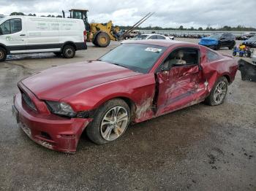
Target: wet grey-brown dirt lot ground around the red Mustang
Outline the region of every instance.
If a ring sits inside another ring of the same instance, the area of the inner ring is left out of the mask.
[[[18,80],[99,58],[116,44],[90,45],[69,60],[48,53],[0,64],[0,190],[256,190],[256,83],[241,81],[240,72],[225,104],[142,122],[112,144],[83,135],[76,155],[45,149],[17,128],[11,105]]]

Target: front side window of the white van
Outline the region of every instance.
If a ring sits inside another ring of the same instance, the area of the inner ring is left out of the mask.
[[[20,19],[18,18],[10,19],[1,24],[0,35],[14,34],[14,33],[17,33],[18,31],[21,31],[21,29],[22,29],[22,26],[21,26]]]

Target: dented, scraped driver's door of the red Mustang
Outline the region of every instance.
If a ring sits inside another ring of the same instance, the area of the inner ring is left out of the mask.
[[[157,115],[181,109],[193,101],[200,72],[200,50],[182,47],[165,59],[157,71]]]

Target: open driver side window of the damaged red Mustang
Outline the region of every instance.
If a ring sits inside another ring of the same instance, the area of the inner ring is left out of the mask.
[[[198,64],[198,50],[195,48],[178,48],[173,50],[165,59],[163,67],[170,69],[172,66],[187,66]]]

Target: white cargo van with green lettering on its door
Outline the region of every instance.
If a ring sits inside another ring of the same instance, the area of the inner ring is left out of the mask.
[[[7,55],[54,52],[73,58],[86,50],[83,20],[57,17],[8,16],[0,20],[0,61]]]

